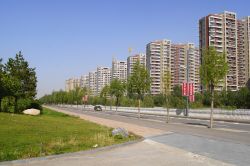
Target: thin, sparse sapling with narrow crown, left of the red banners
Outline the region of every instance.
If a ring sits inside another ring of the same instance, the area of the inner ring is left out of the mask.
[[[166,99],[166,109],[167,109],[167,123],[169,123],[169,97],[171,90],[171,74],[169,70],[164,70],[163,72],[163,94]]]

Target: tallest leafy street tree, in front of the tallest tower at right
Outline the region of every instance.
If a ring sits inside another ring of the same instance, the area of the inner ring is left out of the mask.
[[[209,47],[202,51],[200,77],[203,86],[208,88],[211,93],[210,128],[213,127],[214,88],[226,76],[227,71],[228,65],[225,53],[218,53],[214,47]]]

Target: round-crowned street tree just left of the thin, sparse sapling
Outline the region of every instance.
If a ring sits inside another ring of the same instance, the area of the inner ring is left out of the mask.
[[[140,119],[140,103],[145,93],[149,92],[150,77],[144,66],[137,61],[128,79],[128,92],[135,94],[138,100],[138,118]]]

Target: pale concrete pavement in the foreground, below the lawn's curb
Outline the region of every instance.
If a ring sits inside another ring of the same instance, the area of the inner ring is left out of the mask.
[[[1,165],[1,163],[0,163]],[[230,164],[157,143],[150,139],[95,153],[70,153],[56,158],[13,161],[12,166],[230,166]]]

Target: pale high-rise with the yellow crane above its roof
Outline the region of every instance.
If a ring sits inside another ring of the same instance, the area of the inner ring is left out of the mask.
[[[139,63],[146,67],[146,54],[139,53],[135,55],[131,55],[127,58],[127,75],[129,76],[133,72],[133,68],[135,63],[139,61]]]

